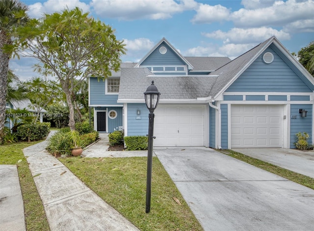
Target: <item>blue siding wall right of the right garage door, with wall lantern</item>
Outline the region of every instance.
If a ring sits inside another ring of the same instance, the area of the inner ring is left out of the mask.
[[[306,117],[301,117],[299,109],[308,111]],[[292,115],[296,115],[296,119],[292,119]],[[298,132],[306,132],[310,135],[308,143],[312,144],[312,129],[313,129],[313,105],[312,104],[291,104],[290,106],[290,148],[295,148],[293,143],[296,142],[296,136]]]

